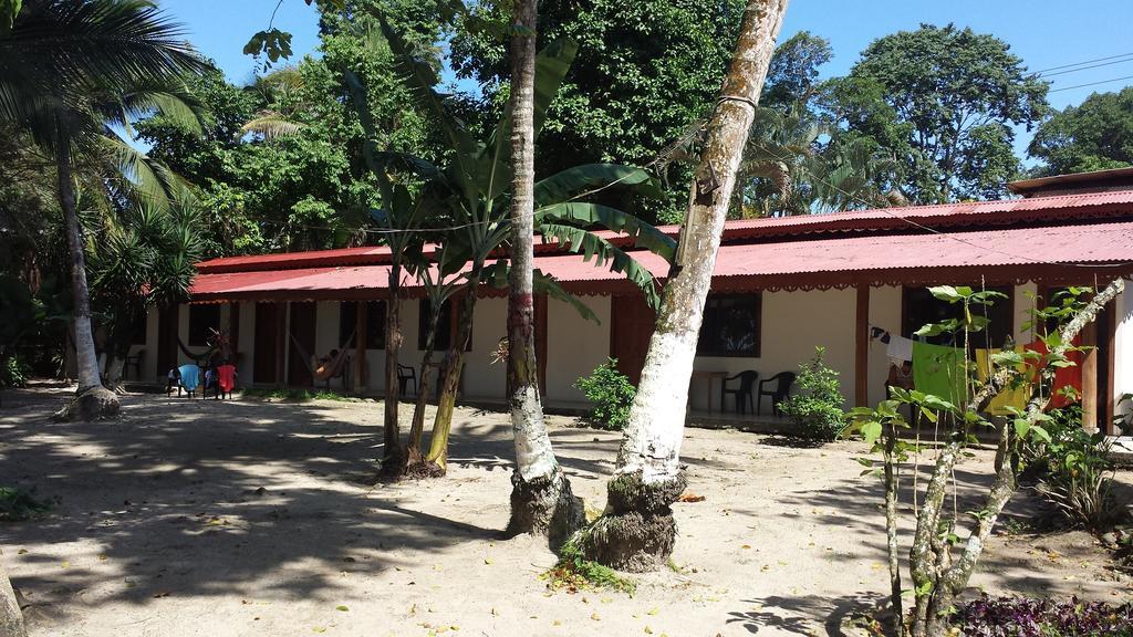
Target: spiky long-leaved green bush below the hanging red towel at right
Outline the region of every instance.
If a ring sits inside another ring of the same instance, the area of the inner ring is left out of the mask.
[[[1031,438],[1022,458],[1038,476],[1036,491],[1067,520],[1098,532],[1121,512],[1110,494],[1113,465],[1104,433],[1082,428],[1082,408],[1053,409],[1043,422],[1047,436]],[[1049,440],[1048,440],[1049,439]]]

